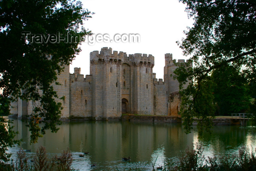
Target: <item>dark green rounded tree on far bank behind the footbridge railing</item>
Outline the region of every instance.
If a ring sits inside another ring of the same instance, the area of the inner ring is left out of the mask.
[[[245,113],[250,99],[246,79],[233,66],[221,67],[212,72],[214,82],[214,102],[218,115]]]

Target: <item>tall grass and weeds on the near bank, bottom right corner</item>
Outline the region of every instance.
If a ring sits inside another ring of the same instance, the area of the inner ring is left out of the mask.
[[[196,145],[195,149],[187,149],[186,155],[180,157],[178,162],[167,161],[164,171],[256,171],[255,151],[242,147],[238,154],[224,155],[217,159],[204,157],[202,146]]]

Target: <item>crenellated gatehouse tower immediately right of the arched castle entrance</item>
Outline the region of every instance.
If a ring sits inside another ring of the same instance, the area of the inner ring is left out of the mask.
[[[130,55],[129,55],[130,56]],[[139,114],[154,114],[153,107],[153,67],[154,56],[135,53],[133,56],[134,86],[133,110]]]

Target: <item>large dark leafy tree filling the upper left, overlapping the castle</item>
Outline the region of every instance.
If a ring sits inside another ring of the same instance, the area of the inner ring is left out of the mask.
[[[37,142],[46,129],[57,132],[56,124],[61,124],[61,103],[54,100],[61,97],[52,84],[91,34],[83,23],[93,13],[80,1],[1,0],[0,14],[0,101],[20,98],[38,104],[28,124],[31,142]]]

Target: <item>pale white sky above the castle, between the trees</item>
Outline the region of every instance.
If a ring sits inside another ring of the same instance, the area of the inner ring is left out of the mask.
[[[174,59],[188,59],[176,41],[185,37],[183,30],[192,26],[184,12],[185,5],[178,0],[82,0],[84,8],[95,12],[84,27],[95,34],[108,34],[113,39],[116,34],[139,34],[140,43],[82,43],[82,52],[70,65],[70,73],[74,67],[81,68],[81,74],[90,74],[90,52],[100,51],[102,47],[127,54],[145,53],[155,57],[153,72],[157,78],[163,78],[165,53],[172,53]]]

